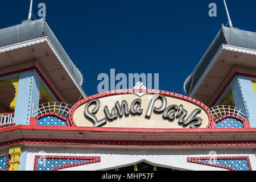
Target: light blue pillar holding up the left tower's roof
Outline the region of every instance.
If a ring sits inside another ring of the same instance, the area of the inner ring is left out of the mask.
[[[16,125],[28,125],[32,104],[39,104],[41,78],[35,70],[19,73],[19,87],[14,111]]]

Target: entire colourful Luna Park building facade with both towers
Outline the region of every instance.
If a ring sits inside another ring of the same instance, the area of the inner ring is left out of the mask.
[[[44,19],[0,30],[1,170],[256,170],[254,32],[222,26],[187,96],[81,84]]]

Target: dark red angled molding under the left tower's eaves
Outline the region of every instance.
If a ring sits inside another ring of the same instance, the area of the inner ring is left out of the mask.
[[[0,77],[3,76],[9,76],[9,75],[14,75],[16,73],[22,73],[22,72],[26,72],[26,71],[31,71],[31,70],[35,70],[38,75],[42,78],[42,80],[45,82],[45,84],[47,85],[47,87],[49,88],[49,90],[51,90],[52,94],[57,98],[57,100],[59,102],[62,102],[61,99],[59,98],[59,96],[57,96],[56,92],[52,89],[51,85],[49,84],[49,82],[46,80],[46,78],[43,76],[43,74],[39,71],[39,69],[36,66],[33,67],[29,67],[29,68],[24,68],[24,69],[19,69],[16,71],[12,71],[12,72],[7,72],[7,73],[2,73],[0,74]]]

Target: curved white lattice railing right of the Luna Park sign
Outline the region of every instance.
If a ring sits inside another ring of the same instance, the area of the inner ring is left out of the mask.
[[[228,115],[228,114],[236,115],[243,119],[247,119],[245,110],[242,110],[235,106],[227,106],[227,105],[213,106],[210,108],[210,111],[212,111],[214,119],[220,118],[222,115]]]

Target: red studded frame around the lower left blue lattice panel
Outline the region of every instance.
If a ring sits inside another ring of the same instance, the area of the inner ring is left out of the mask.
[[[63,166],[56,167],[52,169],[52,171],[57,171],[59,169],[64,169],[64,168],[69,168],[69,167],[75,167],[75,166],[82,166],[85,164],[91,164],[91,163],[97,163],[101,162],[101,157],[100,156],[54,156],[54,155],[36,155],[35,160],[34,160],[34,171],[36,171],[36,167],[38,164],[38,159],[43,158],[43,159],[85,159],[88,161],[85,162],[80,162],[80,163],[73,163],[73,164],[67,164]]]

